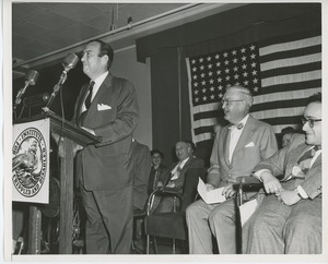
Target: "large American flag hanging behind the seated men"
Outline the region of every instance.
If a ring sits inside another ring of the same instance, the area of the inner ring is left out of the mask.
[[[288,36],[186,59],[192,140],[213,136],[220,100],[232,85],[254,95],[250,113],[276,133],[298,128],[307,97],[321,92],[321,36]]]

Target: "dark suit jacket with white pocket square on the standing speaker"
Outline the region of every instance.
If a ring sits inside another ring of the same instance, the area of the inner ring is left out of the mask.
[[[73,122],[79,125],[82,104],[87,94],[83,86],[78,97]],[[81,125],[93,129],[101,143],[84,147],[77,155],[78,180],[86,190],[108,190],[132,184],[132,132],[139,122],[133,85],[108,73]]]

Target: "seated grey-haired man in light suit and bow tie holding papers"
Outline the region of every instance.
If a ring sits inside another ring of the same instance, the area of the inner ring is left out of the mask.
[[[278,151],[270,124],[254,119],[248,112],[253,96],[248,88],[231,86],[222,99],[224,119],[229,125],[218,127],[208,171],[207,188],[225,187],[226,197],[234,194],[233,183],[239,176],[249,176],[254,167]],[[220,254],[236,253],[234,200],[207,204],[198,200],[187,208],[189,252],[212,254],[212,235]]]

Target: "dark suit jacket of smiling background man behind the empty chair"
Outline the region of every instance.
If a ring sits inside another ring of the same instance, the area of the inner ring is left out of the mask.
[[[167,184],[172,178],[171,171],[177,166],[178,163],[173,163],[167,170],[164,172],[163,178],[161,179],[163,184]],[[185,182],[185,175],[189,168],[203,168],[204,163],[200,158],[190,157],[185,164],[184,168],[180,170],[179,177],[176,180],[173,180],[175,188],[183,188]]]

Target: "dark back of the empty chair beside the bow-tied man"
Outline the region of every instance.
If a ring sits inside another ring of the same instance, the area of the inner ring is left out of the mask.
[[[186,212],[189,204],[195,201],[199,181],[198,179],[200,177],[204,181],[206,176],[206,168],[189,168],[186,171],[180,212]]]

